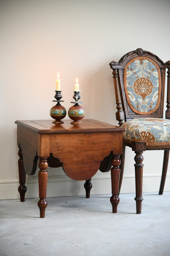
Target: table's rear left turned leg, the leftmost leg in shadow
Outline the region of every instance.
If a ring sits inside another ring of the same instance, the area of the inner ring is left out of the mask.
[[[27,191],[27,187],[25,186],[25,178],[26,178],[26,173],[23,165],[23,159],[22,159],[22,150],[20,146],[18,146],[19,151],[18,151],[18,171],[19,171],[19,187],[18,187],[18,192],[20,193],[20,201],[24,202],[25,201],[25,193]]]

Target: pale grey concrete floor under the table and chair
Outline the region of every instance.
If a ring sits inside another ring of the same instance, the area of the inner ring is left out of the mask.
[[[0,201],[0,256],[170,256],[170,192],[144,193],[136,215],[134,194]]]

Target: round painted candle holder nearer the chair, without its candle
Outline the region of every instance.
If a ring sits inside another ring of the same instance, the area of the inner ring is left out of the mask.
[[[79,105],[83,102],[78,102],[78,100],[81,98],[80,91],[74,91],[73,98],[75,101],[71,101],[71,103],[74,103],[74,105],[69,108],[68,115],[69,118],[73,120],[71,122],[72,124],[81,124],[79,120],[81,120],[85,116],[85,110]]]

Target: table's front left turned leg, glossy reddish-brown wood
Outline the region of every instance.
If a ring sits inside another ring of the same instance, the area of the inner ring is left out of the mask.
[[[38,164],[40,171],[38,172],[39,198],[38,207],[40,208],[40,218],[45,217],[45,209],[47,207],[47,180],[48,180],[48,161],[47,157],[40,157]]]

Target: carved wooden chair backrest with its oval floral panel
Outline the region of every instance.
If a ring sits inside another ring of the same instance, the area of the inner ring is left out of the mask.
[[[138,48],[110,62],[119,124],[136,117],[163,117],[166,68],[159,57]]]

